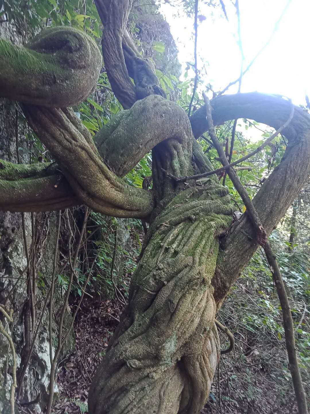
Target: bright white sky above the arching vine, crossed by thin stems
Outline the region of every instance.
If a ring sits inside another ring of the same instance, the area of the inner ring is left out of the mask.
[[[239,0],[244,68],[266,43],[287,2]],[[206,84],[213,84],[215,91],[223,89],[240,74],[237,17],[231,0],[224,0],[224,3],[229,23],[220,17],[220,9],[207,7],[203,1],[200,1],[198,12],[206,17],[198,24],[198,68],[201,70],[205,65],[202,77]],[[181,10],[181,7],[172,7],[167,3],[161,6],[184,68],[186,61],[193,63],[193,19],[184,15],[176,18],[176,9]],[[293,99],[297,105],[305,104],[305,91],[310,94],[309,46],[310,0],[291,0],[269,45],[243,77],[241,92],[282,94]],[[237,87],[231,87],[227,93],[236,91]]]

